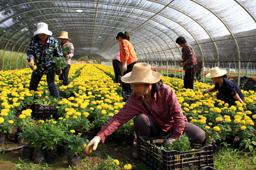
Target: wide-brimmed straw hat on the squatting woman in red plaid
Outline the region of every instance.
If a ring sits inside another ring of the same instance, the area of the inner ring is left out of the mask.
[[[122,76],[121,80],[125,83],[157,83],[162,74],[151,70],[148,63],[135,63],[133,71]]]

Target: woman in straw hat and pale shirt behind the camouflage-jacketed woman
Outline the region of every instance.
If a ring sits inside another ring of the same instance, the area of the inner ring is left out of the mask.
[[[66,57],[67,62],[68,62],[67,67],[65,67],[62,70],[62,73],[60,74],[59,79],[63,80],[63,85],[64,86],[68,86],[68,84],[69,84],[68,74],[69,74],[69,70],[70,70],[70,66],[71,66],[71,57],[74,56],[74,46],[71,42],[68,42],[68,40],[71,40],[71,39],[69,39],[68,32],[66,32],[66,31],[61,31],[60,36],[57,37],[57,39],[61,40],[61,47],[63,49],[62,50],[63,56]],[[71,48],[71,50],[69,50],[69,52],[67,52],[67,54],[64,50],[65,46],[70,46],[70,48]]]

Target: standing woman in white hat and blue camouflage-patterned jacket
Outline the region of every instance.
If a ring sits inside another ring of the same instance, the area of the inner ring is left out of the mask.
[[[50,95],[59,97],[59,91],[55,85],[55,66],[51,60],[53,57],[63,57],[61,48],[59,42],[52,37],[52,32],[48,30],[46,23],[38,23],[37,27],[27,51],[30,68],[34,70],[34,65],[36,65],[36,69],[31,75],[29,89],[36,91],[45,74]]]

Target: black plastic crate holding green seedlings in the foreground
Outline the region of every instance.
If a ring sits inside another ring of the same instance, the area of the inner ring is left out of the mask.
[[[163,138],[138,137],[139,162],[148,169],[201,169],[205,166],[213,167],[213,146],[209,144],[191,144],[195,150],[191,151],[166,151],[160,150],[160,146],[166,141]],[[156,145],[156,146],[155,146]]]

